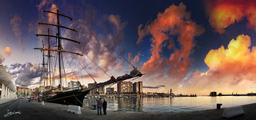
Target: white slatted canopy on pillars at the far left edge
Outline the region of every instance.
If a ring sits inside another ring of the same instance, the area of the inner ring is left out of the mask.
[[[2,88],[0,100],[17,98],[15,94],[15,92],[17,92],[15,89],[15,86],[12,83],[12,80],[9,74],[7,73],[1,61],[0,61],[0,85]]]

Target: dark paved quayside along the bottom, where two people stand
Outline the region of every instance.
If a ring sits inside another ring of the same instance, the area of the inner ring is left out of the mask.
[[[256,103],[242,105],[245,114],[231,118],[231,120],[252,120],[256,118]],[[41,105],[37,101],[28,102],[25,99],[17,99],[0,105],[0,120],[226,120],[221,115],[223,110],[204,110],[179,113],[141,113],[108,111],[107,115],[98,116],[97,110],[81,108],[82,114],[76,115],[67,112],[68,105],[45,103]],[[20,112],[4,117],[7,110]],[[103,113],[103,111],[102,111]]]

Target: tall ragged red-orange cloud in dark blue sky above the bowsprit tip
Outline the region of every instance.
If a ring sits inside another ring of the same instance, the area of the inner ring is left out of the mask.
[[[144,28],[142,26],[138,27],[137,43],[141,43],[143,37],[148,34],[153,38],[150,59],[143,64],[141,71],[154,73],[155,80],[159,80],[159,76],[165,73],[170,79],[182,80],[189,71],[191,62],[189,55],[195,47],[194,38],[204,33],[204,28],[191,20],[191,14],[186,11],[186,6],[182,3],[178,6],[170,5],[163,13],[158,13],[157,19],[147,23]],[[173,37],[177,37],[180,48],[168,45],[168,48],[174,49],[174,52],[167,59],[162,56],[162,48],[165,47],[165,42],[173,44]]]

